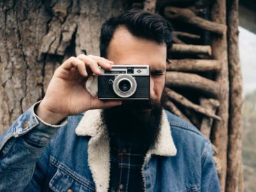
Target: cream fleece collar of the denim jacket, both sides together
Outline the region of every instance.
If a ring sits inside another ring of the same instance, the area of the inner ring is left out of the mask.
[[[102,109],[86,111],[76,127],[77,136],[91,136],[88,143],[88,164],[95,182],[96,191],[108,191],[110,174],[110,147],[106,125],[102,123]],[[175,156],[170,124],[163,110],[158,140],[147,152],[158,156]]]

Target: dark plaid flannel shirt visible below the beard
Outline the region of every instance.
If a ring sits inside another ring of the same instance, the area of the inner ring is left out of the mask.
[[[144,191],[141,168],[147,150],[111,140],[109,191]]]

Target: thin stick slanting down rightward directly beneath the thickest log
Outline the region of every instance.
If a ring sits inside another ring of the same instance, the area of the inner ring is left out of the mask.
[[[215,118],[216,120],[221,120],[220,116],[217,116],[214,113],[211,113],[211,111],[209,111],[208,109],[204,109],[201,106],[198,106],[197,104],[194,104],[193,102],[191,102],[190,100],[186,99],[185,97],[183,97],[179,93],[174,92],[170,88],[165,88],[164,91],[166,92],[168,97],[170,97],[170,99],[175,100],[176,102],[179,102],[180,104],[182,104],[182,106],[194,109],[198,113],[202,113],[202,114],[204,114],[206,116]]]

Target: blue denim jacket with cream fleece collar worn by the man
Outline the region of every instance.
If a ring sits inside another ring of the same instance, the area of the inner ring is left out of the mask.
[[[108,191],[109,138],[100,110],[49,125],[33,108],[0,137],[0,191]],[[211,143],[168,111],[141,172],[145,191],[220,191]]]

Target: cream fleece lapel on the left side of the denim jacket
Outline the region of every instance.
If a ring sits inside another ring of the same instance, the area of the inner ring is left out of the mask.
[[[101,110],[86,111],[76,127],[78,136],[91,136],[88,143],[88,163],[96,191],[108,191],[109,186],[109,138],[101,121]]]

